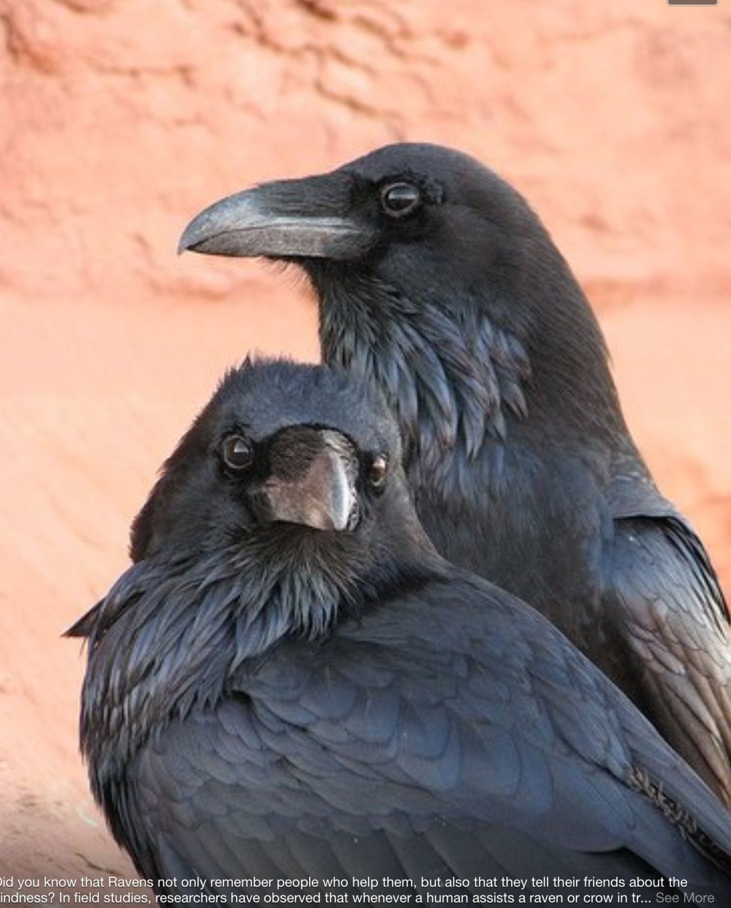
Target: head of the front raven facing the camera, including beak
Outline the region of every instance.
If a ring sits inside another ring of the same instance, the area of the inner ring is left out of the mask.
[[[390,546],[389,515],[398,523],[399,512],[413,525],[385,403],[341,370],[247,360],[165,462],[134,521],[131,554],[253,545],[269,547],[270,563],[316,552],[359,562]]]

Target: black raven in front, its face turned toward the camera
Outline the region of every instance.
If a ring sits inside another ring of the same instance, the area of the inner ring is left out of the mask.
[[[726,808],[544,617],[437,555],[344,373],[232,371],[132,554],[69,633],[94,795],[158,893],[731,898]]]

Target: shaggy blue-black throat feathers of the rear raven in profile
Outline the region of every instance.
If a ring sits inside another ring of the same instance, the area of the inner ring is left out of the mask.
[[[373,281],[318,289],[322,359],[385,391],[427,473],[455,453],[471,461],[486,442],[503,441],[506,414],[527,416],[528,354],[474,306],[459,318],[449,301],[417,304]]]

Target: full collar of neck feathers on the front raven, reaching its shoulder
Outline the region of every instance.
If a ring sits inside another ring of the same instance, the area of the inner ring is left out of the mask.
[[[99,790],[147,736],[214,707],[245,661],[285,637],[324,640],[440,565],[430,549],[396,561],[343,534],[333,557],[332,540],[278,546],[276,534],[291,540],[278,527],[210,558],[140,561],[96,607],[81,734]]]

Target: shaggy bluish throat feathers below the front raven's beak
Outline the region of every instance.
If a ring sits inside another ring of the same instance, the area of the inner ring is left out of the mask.
[[[131,759],[145,729],[218,702],[245,660],[285,637],[325,637],[356,606],[348,572],[311,563],[304,577],[253,549],[226,554],[152,585],[97,629],[90,664],[100,668],[87,673],[82,713],[84,753],[95,764]]]

